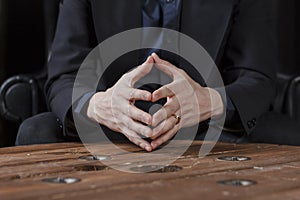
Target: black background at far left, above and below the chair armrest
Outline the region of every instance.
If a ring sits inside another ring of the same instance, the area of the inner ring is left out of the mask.
[[[0,83],[46,62],[43,0],[0,0]],[[17,124],[0,119],[0,146],[13,144]]]

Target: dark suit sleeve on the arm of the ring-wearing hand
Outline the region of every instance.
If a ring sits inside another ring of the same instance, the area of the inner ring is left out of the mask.
[[[247,134],[275,97],[278,65],[272,0],[241,0],[223,57],[223,78]]]

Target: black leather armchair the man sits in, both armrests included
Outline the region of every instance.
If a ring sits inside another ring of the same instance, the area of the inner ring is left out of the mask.
[[[59,2],[59,0],[44,0],[48,50],[55,33]],[[21,124],[25,119],[47,110],[43,93],[47,76],[45,68],[42,67],[42,70],[37,73],[11,77],[2,84],[0,114],[4,118]],[[278,93],[274,103],[274,113],[287,116],[287,119],[293,119],[296,123],[300,123],[300,76],[297,76],[299,72],[293,75],[278,73]],[[265,139],[258,138],[255,142],[260,140],[263,142]]]

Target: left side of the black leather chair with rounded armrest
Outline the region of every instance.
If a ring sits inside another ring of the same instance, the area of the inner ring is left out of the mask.
[[[59,12],[59,0],[43,0],[46,52],[50,53]],[[21,124],[25,119],[47,110],[43,93],[46,66],[39,71],[8,78],[0,88],[0,114]]]

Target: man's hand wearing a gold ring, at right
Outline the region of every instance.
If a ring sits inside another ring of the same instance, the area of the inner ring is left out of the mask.
[[[155,66],[173,79],[152,94],[152,101],[167,98],[167,103],[152,118],[153,149],[169,141],[180,128],[190,127],[209,118],[223,114],[224,105],[220,94],[204,88],[182,69],[152,54]],[[174,117],[180,116],[180,122]]]

